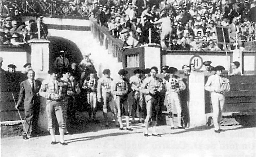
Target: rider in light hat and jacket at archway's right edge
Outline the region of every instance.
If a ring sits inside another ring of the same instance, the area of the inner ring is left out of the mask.
[[[84,53],[84,59],[79,63],[78,68],[81,70],[81,77],[80,77],[80,87],[84,83],[85,78],[89,75],[90,71],[95,71],[96,69],[93,65],[93,61],[90,59],[91,53]]]

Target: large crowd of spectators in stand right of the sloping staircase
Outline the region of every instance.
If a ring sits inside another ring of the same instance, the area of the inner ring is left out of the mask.
[[[126,48],[151,40],[164,49],[231,50],[256,38],[256,0],[100,0],[92,5],[97,22]],[[228,27],[234,44],[217,44],[216,26]]]

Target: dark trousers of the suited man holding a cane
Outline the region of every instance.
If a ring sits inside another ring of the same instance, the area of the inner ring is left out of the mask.
[[[22,135],[25,136],[26,132],[29,136],[38,133],[38,117],[39,117],[39,104],[32,108],[24,106],[25,110],[25,118],[24,118],[24,126]]]

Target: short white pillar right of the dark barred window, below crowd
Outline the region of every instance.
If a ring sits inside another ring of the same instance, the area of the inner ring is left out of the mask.
[[[144,64],[145,68],[156,66],[158,73],[161,71],[161,48],[159,46],[147,45],[144,48]]]

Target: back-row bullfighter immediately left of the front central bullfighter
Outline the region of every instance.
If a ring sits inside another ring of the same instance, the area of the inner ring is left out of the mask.
[[[136,110],[137,107],[139,109],[139,122],[142,122],[141,118],[142,118],[142,102],[140,100],[140,86],[142,84],[142,78],[141,78],[141,74],[142,74],[142,70],[141,69],[135,69],[133,71],[133,73],[135,75],[130,77],[130,84],[131,84],[131,89],[132,89],[132,98],[133,98],[133,104],[132,104],[132,124],[135,123],[135,114],[136,114]]]

